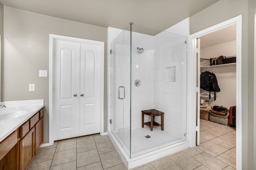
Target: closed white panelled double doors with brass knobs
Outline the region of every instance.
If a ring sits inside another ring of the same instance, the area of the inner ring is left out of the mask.
[[[100,132],[100,48],[54,40],[54,141]]]

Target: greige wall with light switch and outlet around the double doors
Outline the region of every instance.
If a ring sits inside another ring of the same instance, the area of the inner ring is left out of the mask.
[[[104,27],[4,6],[2,101],[44,99],[44,143],[49,141],[49,122],[52,121],[49,120],[49,78],[39,77],[38,72],[49,68],[49,34],[104,41],[105,52],[107,49]],[[106,72],[104,74],[106,77]],[[106,106],[106,78],[104,80]],[[28,91],[28,84],[35,84],[34,92]],[[107,119],[104,119],[104,131],[107,131]]]

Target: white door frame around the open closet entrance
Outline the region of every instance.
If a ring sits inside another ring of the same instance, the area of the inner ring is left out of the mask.
[[[242,15],[234,17],[230,20],[218,23],[212,27],[199,31],[190,35],[190,78],[191,78],[191,119],[190,123],[190,147],[196,146],[196,92],[200,89],[196,88],[196,48],[194,48],[194,40],[204,35],[236,24],[236,169],[242,169]]]

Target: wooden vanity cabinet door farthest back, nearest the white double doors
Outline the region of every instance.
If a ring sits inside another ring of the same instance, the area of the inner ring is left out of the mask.
[[[44,117],[42,117],[35,125],[35,155],[40,145],[44,141]]]

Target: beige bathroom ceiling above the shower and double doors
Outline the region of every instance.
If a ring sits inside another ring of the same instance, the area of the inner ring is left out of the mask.
[[[219,0],[0,0],[4,6],[125,29],[130,22],[165,30]]]

